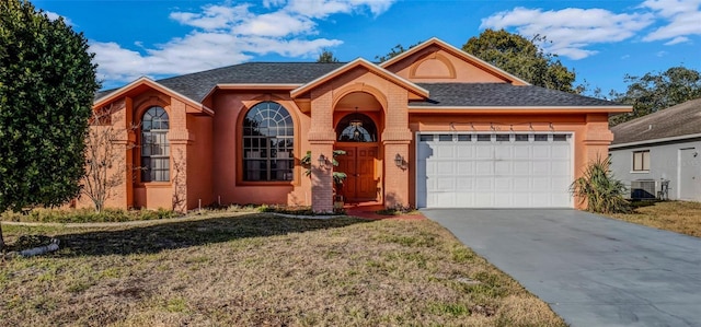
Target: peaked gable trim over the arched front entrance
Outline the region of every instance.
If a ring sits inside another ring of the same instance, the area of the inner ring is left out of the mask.
[[[317,78],[315,80],[313,80],[313,81],[311,81],[311,82],[309,82],[309,83],[307,83],[304,85],[301,85],[301,86],[292,90],[290,92],[290,96],[292,98],[302,96],[303,94],[309,93],[311,90],[313,90],[313,89],[315,89],[315,87],[318,87],[318,86],[320,86],[320,85],[322,85],[322,84],[324,84],[324,83],[326,83],[326,82],[329,82],[329,81],[331,81],[331,80],[333,80],[333,79],[335,79],[335,78],[337,78],[340,75],[343,75],[343,74],[345,74],[345,73],[347,73],[347,72],[349,72],[349,71],[352,71],[352,70],[354,70],[356,68],[367,69],[368,71],[370,71],[370,72],[372,72],[372,73],[375,73],[375,74],[377,74],[377,75],[379,75],[379,77],[381,77],[381,78],[383,78],[386,80],[389,80],[389,81],[391,81],[391,82],[393,82],[393,83],[406,89],[406,91],[409,91],[410,93],[413,93],[416,96],[418,96],[417,98],[427,98],[428,97],[428,91],[426,91],[425,89],[423,89],[423,87],[412,83],[411,81],[407,81],[407,80],[405,80],[405,79],[403,79],[403,78],[401,78],[401,77],[399,77],[397,74],[393,74],[392,72],[387,71],[387,70],[378,67],[377,65],[375,65],[375,63],[372,63],[370,61],[367,61],[367,60],[365,60],[363,58],[358,58],[356,60],[353,60],[353,61],[350,61],[350,62],[348,62],[348,63],[346,63],[346,65],[344,65],[344,66],[342,66],[342,67],[340,67],[340,68],[337,68],[337,69],[335,69],[335,70],[333,70],[333,71],[331,71],[331,72],[329,72],[326,74],[324,74],[324,75],[321,75],[321,77]]]

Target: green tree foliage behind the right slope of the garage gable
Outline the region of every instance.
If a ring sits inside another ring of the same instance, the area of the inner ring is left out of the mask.
[[[533,85],[576,93],[574,71],[563,66],[556,55],[538,46],[544,42],[547,38],[540,35],[528,39],[505,30],[485,30],[471,37],[462,49]]]

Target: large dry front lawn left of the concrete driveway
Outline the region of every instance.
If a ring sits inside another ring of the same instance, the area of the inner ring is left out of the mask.
[[[256,213],[41,232],[66,247],[0,264],[3,325],[564,326],[428,220]]]

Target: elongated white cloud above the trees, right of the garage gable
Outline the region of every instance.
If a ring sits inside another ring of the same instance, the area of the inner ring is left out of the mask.
[[[482,20],[481,28],[516,28],[524,36],[548,38],[542,46],[550,52],[574,60],[597,54],[591,45],[628,39],[653,24],[650,13],[613,13],[604,9],[515,8]]]

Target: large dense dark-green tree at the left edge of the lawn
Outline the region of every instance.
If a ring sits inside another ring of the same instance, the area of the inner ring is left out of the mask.
[[[0,212],[78,196],[100,89],[88,48],[62,19],[25,0],[0,1]]]

